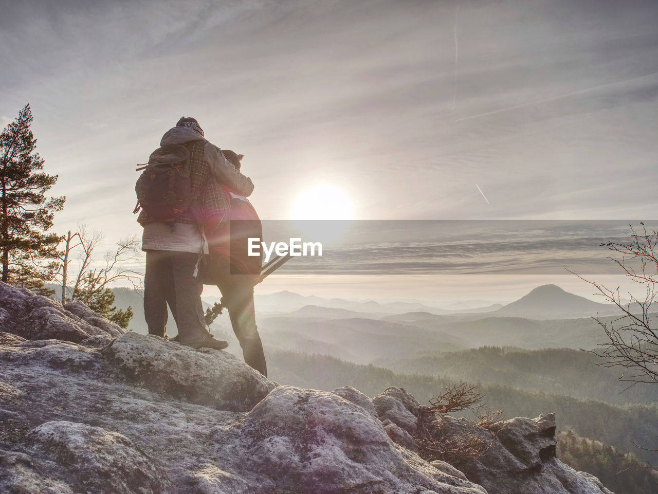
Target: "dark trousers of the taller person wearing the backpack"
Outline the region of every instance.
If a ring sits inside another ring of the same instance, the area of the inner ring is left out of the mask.
[[[207,334],[201,305],[203,282],[194,276],[198,260],[199,255],[190,252],[146,252],[144,317],[149,334],[164,336],[167,304],[179,341],[199,341]]]

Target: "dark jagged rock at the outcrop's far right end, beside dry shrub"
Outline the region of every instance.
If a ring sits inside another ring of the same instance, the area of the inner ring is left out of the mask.
[[[490,432],[465,419],[446,416],[444,433],[480,437],[493,443],[486,454],[460,467],[468,480],[489,494],[612,494],[590,474],[576,472],[555,457],[555,416],[496,422]]]

